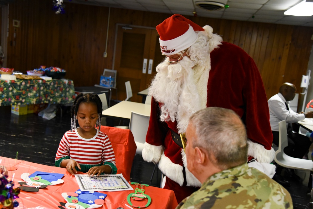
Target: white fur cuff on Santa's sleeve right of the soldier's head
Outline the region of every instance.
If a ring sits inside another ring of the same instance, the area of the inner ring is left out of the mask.
[[[254,157],[259,163],[271,163],[275,157],[275,150],[267,150],[263,145],[248,139],[248,156]]]

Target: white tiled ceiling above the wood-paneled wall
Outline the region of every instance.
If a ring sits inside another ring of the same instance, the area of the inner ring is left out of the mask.
[[[223,18],[253,22],[277,22],[279,24],[306,25],[313,27],[312,17],[286,16],[283,13],[301,0],[212,0],[227,3],[228,9],[208,11],[196,6],[199,0],[64,0],[95,6],[126,8],[157,13],[179,13],[192,16],[196,10],[199,17]],[[203,0],[204,1],[204,0]],[[254,18],[251,18],[254,15]],[[288,18],[287,18],[288,17]]]

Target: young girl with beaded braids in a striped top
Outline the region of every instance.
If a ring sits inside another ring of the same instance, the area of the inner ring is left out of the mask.
[[[102,102],[98,95],[78,94],[71,107],[71,130],[61,139],[55,166],[88,176],[116,174],[115,155],[108,136],[100,131]],[[76,120],[79,128],[76,128]],[[95,128],[99,126],[99,130]]]

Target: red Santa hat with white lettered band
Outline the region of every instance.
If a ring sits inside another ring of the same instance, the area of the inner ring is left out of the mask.
[[[204,31],[202,27],[180,14],[174,14],[156,26],[160,35],[162,54],[173,55],[190,47],[196,42],[195,31]]]

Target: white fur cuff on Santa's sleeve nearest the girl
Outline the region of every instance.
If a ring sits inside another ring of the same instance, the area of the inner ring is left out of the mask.
[[[145,142],[144,148],[142,150],[142,158],[147,162],[153,162],[157,164],[160,161],[161,155],[164,151],[162,145],[155,146]]]

